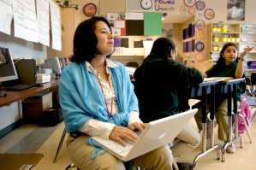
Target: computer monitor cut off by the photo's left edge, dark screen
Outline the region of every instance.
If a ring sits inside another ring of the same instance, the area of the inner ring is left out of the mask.
[[[0,47],[0,83],[18,79],[15,63],[8,48]]]

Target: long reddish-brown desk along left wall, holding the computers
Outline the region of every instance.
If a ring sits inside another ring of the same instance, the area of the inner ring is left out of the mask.
[[[59,85],[59,80],[54,79],[49,83],[42,84],[42,86],[34,86],[23,91],[7,91],[6,97],[0,97],[0,108],[8,106],[11,103],[19,102],[27,97],[33,97],[36,94],[45,91],[54,91]]]

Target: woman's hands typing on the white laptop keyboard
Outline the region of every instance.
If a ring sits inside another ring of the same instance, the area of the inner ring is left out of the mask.
[[[125,146],[124,140],[129,140],[132,142],[137,141],[137,135],[132,130],[128,129],[128,127],[115,126],[110,132],[110,139],[115,140],[117,143]]]

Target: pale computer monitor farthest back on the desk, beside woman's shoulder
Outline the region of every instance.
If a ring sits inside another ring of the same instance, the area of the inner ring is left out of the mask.
[[[45,63],[40,65],[40,67],[41,68],[51,68],[52,72],[57,75],[62,74],[62,69],[61,69],[60,62],[59,62],[59,59],[57,56],[46,60]]]

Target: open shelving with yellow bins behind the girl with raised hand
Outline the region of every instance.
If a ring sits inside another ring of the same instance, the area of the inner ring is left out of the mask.
[[[208,46],[213,62],[217,62],[219,52],[227,42],[235,43],[239,51],[251,46],[253,50],[247,54],[244,67],[247,75],[256,73],[256,24],[211,23],[208,30]]]

